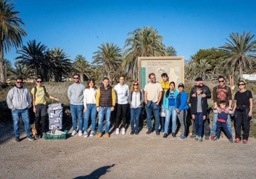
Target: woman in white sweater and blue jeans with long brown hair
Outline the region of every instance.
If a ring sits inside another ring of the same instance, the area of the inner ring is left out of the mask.
[[[90,136],[94,136],[95,125],[96,125],[96,87],[93,79],[87,81],[86,89],[84,90],[84,137],[88,137],[88,121],[91,117],[92,130]]]

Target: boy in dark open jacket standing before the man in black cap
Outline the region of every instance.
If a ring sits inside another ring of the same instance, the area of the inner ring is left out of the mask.
[[[203,141],[202,132],[204,120],[207,116],[207,98],[202,98],[202,87],[196,87],[196,96],[191,98],[191,114],[192,119],[195,120],[195,140]]]

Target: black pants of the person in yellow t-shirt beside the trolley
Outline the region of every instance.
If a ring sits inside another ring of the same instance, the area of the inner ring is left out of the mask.
[[[35,113],[35,128],[38,130],[38,133],[46,133],[47,132],[47,120],[46,120],[46,105],[45,104],[37,104],[35,105],[36,113]],[[41,118],[40,118],[41,116]],[[42,125],[41,121],[42,120]]]

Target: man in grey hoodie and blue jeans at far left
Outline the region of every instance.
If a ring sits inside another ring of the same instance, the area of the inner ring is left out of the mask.
[[[23,79],[17,78],[15,81],[15,87],[13,87],[7,94],[6,99],[9,109],[12,110],[13,129],[15,133],[15,141],[20,141],[19,124],[20,117],[22,117],[24,123],[24,129],[26,131],[26,139],[35,140],[31,136],[29,130],[29,108],[31,107],[31,96],[29,90],[23,87]]]

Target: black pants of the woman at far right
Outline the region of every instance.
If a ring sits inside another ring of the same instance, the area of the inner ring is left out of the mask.
[[[236,138],[241,140],[241,127],[243,128],[243,139],[248,140],[250,132],[250,120],[247,121],[246,113],[237,111],[235,121]]]

